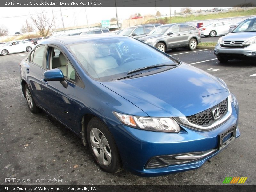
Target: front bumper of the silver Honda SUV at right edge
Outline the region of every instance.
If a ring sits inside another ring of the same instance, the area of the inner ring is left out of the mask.
[[[224,48],[219,43],[214,48],[214,54],[227,59],[251,60],[256,58],[256,44],[245,48]]]

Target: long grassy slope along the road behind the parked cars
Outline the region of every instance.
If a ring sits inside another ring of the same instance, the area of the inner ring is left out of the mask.
[[[222,12],[222,13],[215,13],[215,14],[208,14],[208,15],[187,15],[187,16],[176,16],[171,17],[164,17],[164,18],[158,18],[158,19],[150,19],[144,22],[144,24],[147,23],[162,23],[162,24],[168,24],[168,23],[184,23],[188,21],[193,20],[205,20],[205,19],[219,19],[219,18],[227,18],[227,17],[239,17],[239,16],[249,16],[249,15],[256,15],[256,8],[251,10],[241,10],[241,11],[229,11],[229,12]]]

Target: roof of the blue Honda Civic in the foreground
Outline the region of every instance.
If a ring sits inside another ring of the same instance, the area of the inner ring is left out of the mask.
[[[95,34],[91,36],[68,36],[68,37],[60,37],[56,39],[45,39],[42,44],[75,44],[75,43],[81,43],[81,42],[88,42],[93,40],[104,40],[104,39],[114,39],[114,38],[132,38],[128,36],[122,36],[122,35],[115,35],[113,33],[103,33],[103,34]]]

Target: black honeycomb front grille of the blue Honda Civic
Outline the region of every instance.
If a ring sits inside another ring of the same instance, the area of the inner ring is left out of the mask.
[[[196,114],[191,115],[191,116],[187,116],[186,118],[188,119],[188,121],[190,123],[193,123],[193,124],[196,124],[196,125],[201,125],[201,126],[208,126],[208,125],[214,123],[215,121],[221,119],[223,116],[225,116],[225,114],[228,111],[227,103],[228,103],[228,101],[227,101],[227,99],[225,99],[222,102],[220,102],[218,105],[215,105],[212,108],[209,108],[205,111],[202,111],[200,113],[196,113]],[[215,108],[220,109],[220,118],[218,118],[217,120],[214,120],[213,116],[212,116],[212,109],[215,109]]]

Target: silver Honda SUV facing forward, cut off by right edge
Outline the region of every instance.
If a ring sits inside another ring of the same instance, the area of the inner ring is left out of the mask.
[[[231,33],[219,38],[214,54],[220,62],[256,59],[256,16],[244,20]]]

